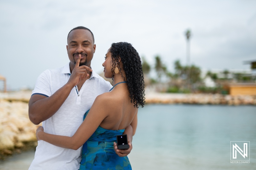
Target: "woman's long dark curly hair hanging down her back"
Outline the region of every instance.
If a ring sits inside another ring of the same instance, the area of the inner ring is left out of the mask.
[[[127,42],[117,42],[112,43],[110,47],[110,52],[112,55],[113,61],[118,62],[120,57],[123,63],[123,70],[126,76],[126,83],[128,85],[128,90],[130,92],[131,103],[134,107],[137,108],[140,106],[144,107],[145,105],[145,89],[144,89],[144,76],[142,72],[141,60],[138,52],[135,48],[132,47],[132,44]],[[114,65],[115,62],[112,62],[112,82],[114,82]],[[119,74],[123,76],[123,73]],[[125,80],[124,80],[125,81]]]

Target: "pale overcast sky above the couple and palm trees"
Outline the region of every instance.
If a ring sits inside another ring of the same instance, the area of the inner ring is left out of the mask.
[[[154,67],[159,55],[168,70],[186,64],[185,31],[191,30],[190,63],[201,69],[250,69],[256,60],[254,0],[1,0],[0,75],[8,90],[34,89],[47,69],[69,62],[67,35],[76,26],[95,38],[92,68],[103,71],[113,42],[132,43]]]

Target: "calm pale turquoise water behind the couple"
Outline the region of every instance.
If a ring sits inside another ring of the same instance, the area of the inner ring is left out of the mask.
[[[250,163],[230,163],[230,141],[250,141]],[[132,145],[135,170],[256,169],[256,107],[146,105]],[[13,156],[0,169],[28,169],[33,156]]]

